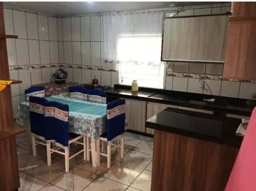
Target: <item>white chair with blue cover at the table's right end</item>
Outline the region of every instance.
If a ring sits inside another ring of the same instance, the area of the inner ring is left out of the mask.
[[[123,134],[125,132],[125,100],[115,100],[110,102],[106,106],[106,132],[100,136],[102,141],[102,150],[103,150],[103,141],[108,142],[107,154],[100,153],[103,156],[107,157],[108,168],[111,164],[111,151],[116,148],[121,148],[121,158],[123,158]],[[121,138],[121,142],[113,144],[114,140]],[[111,148],[111,146],[114,146]]]

